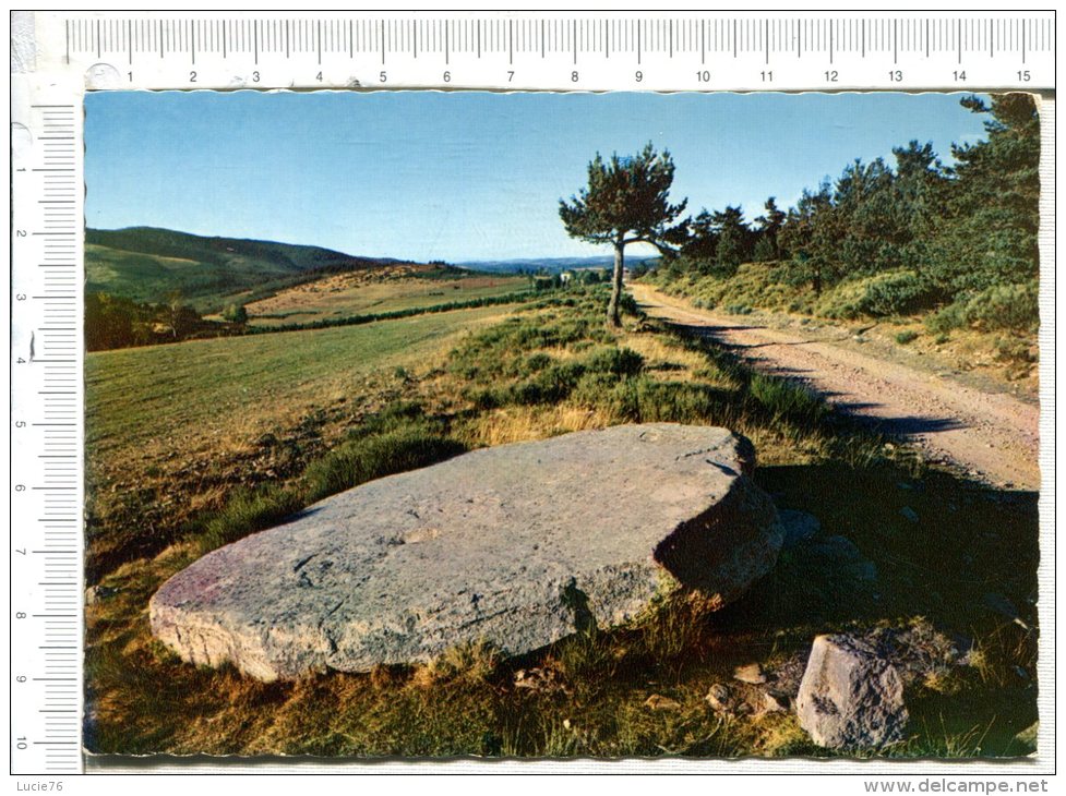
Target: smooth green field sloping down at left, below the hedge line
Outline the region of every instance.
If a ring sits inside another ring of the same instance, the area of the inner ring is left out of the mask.
[[[190,511],[302,467],[339,424],[506,306],[88,354],[89,572],[158,552]],[[152,528],[146,531],[145,528]]]

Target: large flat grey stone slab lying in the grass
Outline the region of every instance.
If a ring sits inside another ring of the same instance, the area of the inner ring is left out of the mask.
[[[475,450],[373,481],[217,550],[152,598],[184,660],[264,680],[507,654],[610,627],[678,584],[724,605],[783,531],[751,443],[668,423]]]

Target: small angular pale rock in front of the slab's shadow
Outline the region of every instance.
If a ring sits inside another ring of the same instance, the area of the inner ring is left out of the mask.
[[[909,717],[896,667],[869,640],[846,635],[815,638],[796,714],[812,740],[831,749],[902,740]]]

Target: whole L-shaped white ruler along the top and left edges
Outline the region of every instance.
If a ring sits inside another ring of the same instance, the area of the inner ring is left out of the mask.
[[[81,771],[86,91],[1046,91],[1054,12],[12,19],[11,769]]]

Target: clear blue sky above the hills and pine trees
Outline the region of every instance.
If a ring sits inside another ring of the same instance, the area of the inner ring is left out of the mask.
[[[673,156],[675,201],[752,219],[912,138],[948,158],[983,136],[960,96],[95,93],[86,221],[417,261],[601,254],[558,215],[597,152],[650,141]]]

